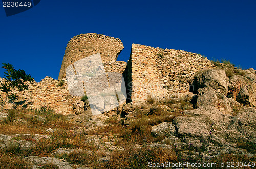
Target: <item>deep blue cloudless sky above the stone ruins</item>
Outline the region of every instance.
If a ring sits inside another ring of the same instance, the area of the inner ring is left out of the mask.
[[[58,78],[68,41],[81,33],[121,39],[118,60],[129,59],[132,43],[180,49],[208,59],[256,69],[256,1],[41,0],[6,17],[0,7],[0,57],[37,82]],[[0,77],[4,75],[0,68]]]

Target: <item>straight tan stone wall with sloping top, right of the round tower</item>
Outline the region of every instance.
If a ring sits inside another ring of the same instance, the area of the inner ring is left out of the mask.
[[[129,62],[130,78],[127,91],[131,101],[143,101],[148,95],[170,97],[173,93],[189,91],[189,78],[197,71],[215,67],[205,57],[183,50],[160,49],[132,45]],[[131,88],[129,88],[131,86]]]

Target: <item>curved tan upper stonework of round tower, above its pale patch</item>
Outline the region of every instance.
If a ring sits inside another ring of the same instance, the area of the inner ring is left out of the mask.
[[[67,44],[58,79],[66,77],[66,68],[72,63],[90,55],[100,53],[106,71],[123,72],[126,62],[116,61],[123,49],[118,38],[96,33],[74,36]]]

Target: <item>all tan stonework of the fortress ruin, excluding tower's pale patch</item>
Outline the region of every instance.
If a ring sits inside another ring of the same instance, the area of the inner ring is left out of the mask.
[[[17,94],[26,100],[27,108],[50,105],[56,112],[62,114],[86,110],[84,107],[88,107],[88,103],[81,101],[81,96],[74,96],[69,91],[66,69],[79,60],[95,54],[100,54],[108,81],[113,81],[110,80],[113,73],[123,75],[127,94],[126,103],[145,101],[148,96],[161,99],[172,97],[173,94],[188,92],[190,80],[196,72],[215,67],[207,58],[196,53],[139,44],[132,44],[131,55],[127,63],[117,61],[122,49],[123,44],[118,38],[96,33],[74,36],[67,44],[58,80],[46,77],[41,82],[29,83],[29,90],[17,92]],[[3,80],[0,79],[0,83]],[[59,85],[61,81],[63,85]],[[120,77],[116,81],[120,82]],[[124,85],[123,82],[121,85]],[[6,96],[0,91],[0,97],[3,100]],[[121,105],[121,97],[116,97],[118,104]],[[110,101],[105,100],[105,104],[95,102],[100,112],[108,111],[111,107],[113,98],[104,96],[104,99],[106,98]],[[12,104],[8,103],[4,109],[11,107]]]

